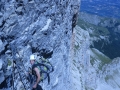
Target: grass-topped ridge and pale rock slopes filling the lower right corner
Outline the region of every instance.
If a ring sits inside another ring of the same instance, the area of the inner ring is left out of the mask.
[[[95,80],[95,82],[93,83],[95,87],[93,87],[90,84],[89,85],[90,88],[94,90],[103,90],[103,89],[119,90],[120,89],[119,87],[120,58],[119,57],[111,60],[109,57],[105,56],[99,50],[92,48],[90,50],[90,63],[91,63],[92,69],[94,70],[92,74],[94,74],[93,78]],[[91,68],[89,70],[91,72]],[[90,88],[88,88],[88,90]]]

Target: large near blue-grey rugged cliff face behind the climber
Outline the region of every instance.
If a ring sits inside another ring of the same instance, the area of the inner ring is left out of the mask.
[[[76,22],[73,16],[79,11],[80,0],[2,0],[0,5],[2,77],[11,75],[14,64],[22,66],[24,63],[27,69],[29,56],[37,53],[54,66],[50,84],[47,80],[42,83],[45,90],[75,88],[70,74],[70,38]],[[25,68],[21,67],[22,70]],[[15,88],[19,82],[19,74],[16,74]],[[8,85],[8,80],[6,83]],[[7,87],[11,88],[10,85]]]

